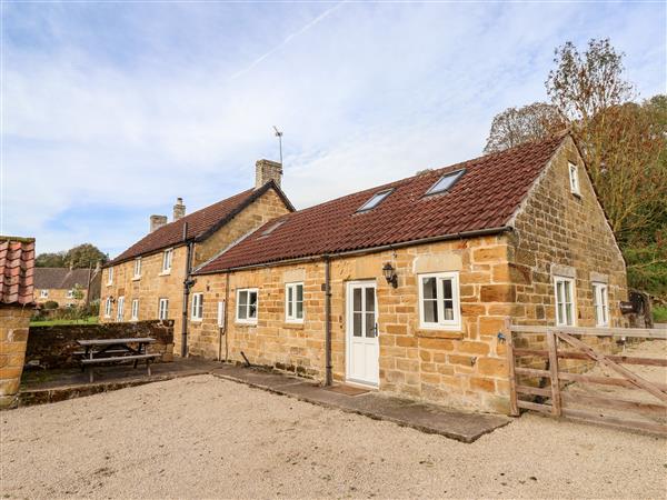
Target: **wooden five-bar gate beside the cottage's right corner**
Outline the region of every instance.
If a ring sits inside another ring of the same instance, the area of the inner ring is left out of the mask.
[[[520,334],[520,338],[517,334]],[[590,342],[586,343],[583,339],[595,340],[600,346],[590,346]],[[667,330],[509,326],[507,356],[511,414],[518,416],[519,409],[526,409],[554,417],[667,434],[667,383],[665,383],[667,377],[663,377],[660,382],[649,381],[623,367],[623,364],[634,364],[665,368],[667,358],[665,356],[657,358],[615,356],[601,352],[604,348],[607,348],[606,350],[613,348],[615,346],[613,342],[633,343],[640,339],[664,342],[667,340]],[[545,342],[546,349],[539,348],[539,343]],[[578,360],[574,362],[579,363],[579,372],[564,367],[568,362],[573,364],[573,361],[564,360]],[[614,372],[615,377],[580,372],[581,367],[589,368],[595,363]],[[631,389],[631,393],[641,394],[641,400],[609,393],[590,396],[568,391],[568,386],[575,382]],[[650,398],[647,399],[646,394],[650,394]],[[577,408],[581,406],[586,409]],[[619,416],[619,412],[623,414]],[[639,414],[649,418],[637,419]]]

